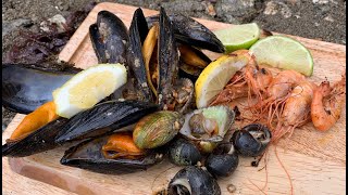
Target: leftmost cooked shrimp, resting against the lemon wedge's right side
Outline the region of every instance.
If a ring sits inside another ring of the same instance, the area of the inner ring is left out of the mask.
[[[257,95],[260,99],[272,78],[272,73],[266,68],[260,68],[252,55],[249,64],[232,77],[224,90],[217,94],[210,105],[229,103],[233,100],[246,96],[250,100],[251,95]]]

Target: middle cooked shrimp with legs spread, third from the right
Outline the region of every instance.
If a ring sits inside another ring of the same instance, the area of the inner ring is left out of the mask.
[[[266,89],[266,98],[259,101],[251,108],[253,113],[258,113],[258,119],[266,116],[268,125],[272,127],[274,116],[279,119],[278,113],[284,102],[289,98],[294,87],[306,81],[306,77],[295,70],[283,70],[278,73]],[[266,115],[266,113],[269,113]]]

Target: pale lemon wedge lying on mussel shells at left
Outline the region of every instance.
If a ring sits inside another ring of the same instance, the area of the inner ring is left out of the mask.
[[[127,81],[127,70],[122,64],[91,66],[67,80],[53,91],[57,114],[71,118],[113,93]]]

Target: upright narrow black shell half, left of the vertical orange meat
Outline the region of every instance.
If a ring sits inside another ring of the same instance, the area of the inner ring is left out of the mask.
[[[141,9],[134,12],[129,27],[129,43],[127,48],[127,63],[129,74],[134,78],[134,86],[138,100],[151,102],[152,92],[147,83],[145,62],[141,53],[142,43],[149,32]]]

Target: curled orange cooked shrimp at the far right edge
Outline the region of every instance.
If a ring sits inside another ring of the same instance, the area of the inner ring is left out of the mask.
[[[330,87],[323,81],[314,91],[311,105],[311,118],[315,129],[326,131],[332,128],[340,117],[346,100],[346,74],[340,81]]]

